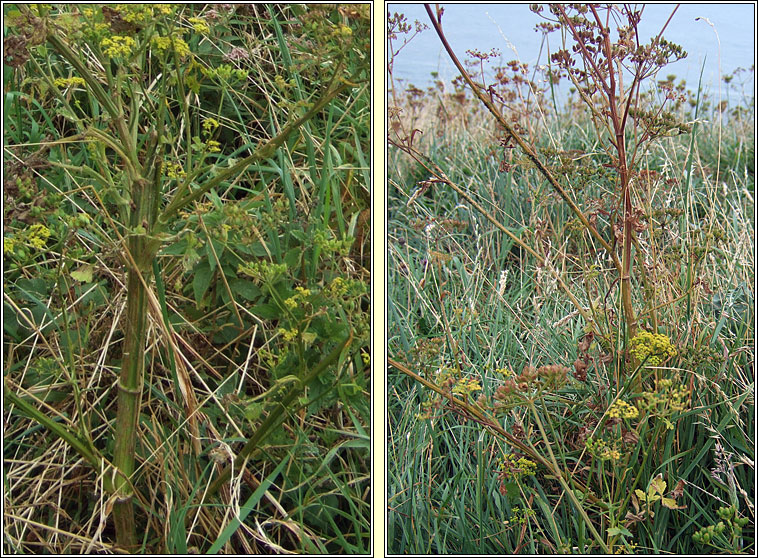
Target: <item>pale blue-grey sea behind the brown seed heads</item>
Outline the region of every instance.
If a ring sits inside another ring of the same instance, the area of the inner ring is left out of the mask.
[[[664,37],[681,45],[688,56],[664,68],[660,77],[675,74],[695,90],[703,70],[703,85],[714,93],[719,76],[731,74],[736,68],[753,66],[755,5],[755,2],[680,4]],[[514,59],[526,62],[530,67],[547,62],[548,45],[543,42],[542,34],[535,31],[535,25],[544,20],[529,10],[529,4],[467,2],[442,6],[445,8],[443,28],[461,60],[466,58],[467,49],[486,52],[494,47],[502,53],[499,60],[495,59],[494,66]],[[642,42],[649,42],[661,30],[675,6],[644,5],[639,26]],[[423,4],[387,4],[387,11],[403,13],[410,22],[419,20],[429,24]],[[547,7],[543,14],[550,15]],[[550,52],[560,48],[558,32],[550,34],[549,41]],[[399,43],[396,42],[397,46]],[[429,25],[429,29],[416,36],[395,58],[393,75],[404,80],[406,85],[426,88],[432,83],[432,72],[437,72],[448,84],[457,75]],[[752,93],[752,75],[747,85]]]

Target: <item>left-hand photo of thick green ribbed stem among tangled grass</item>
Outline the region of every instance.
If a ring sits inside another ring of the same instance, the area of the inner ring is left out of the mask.
[[[369,6],[3,9],[4,550],[365,552]]]

